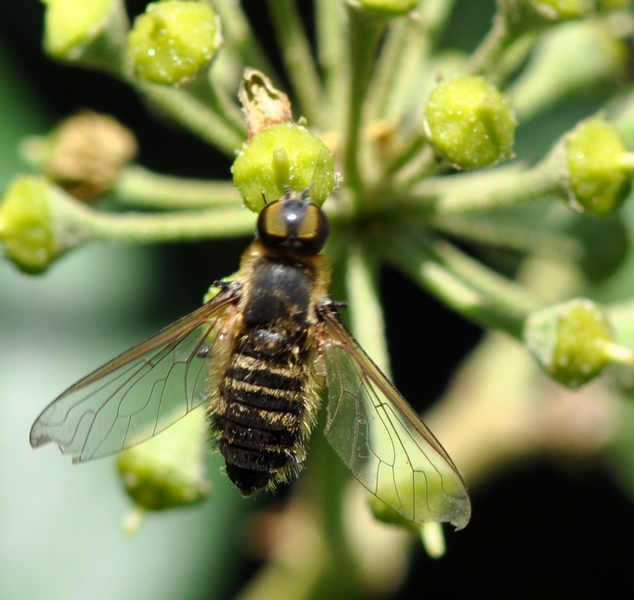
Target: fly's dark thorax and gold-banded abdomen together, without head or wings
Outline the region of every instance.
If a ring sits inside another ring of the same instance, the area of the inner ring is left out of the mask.
[[[306,456],[317,404],[306,350],[310,286],[301,266],[259,265],[220,384],[212,431],[245,495],[291,480]]]

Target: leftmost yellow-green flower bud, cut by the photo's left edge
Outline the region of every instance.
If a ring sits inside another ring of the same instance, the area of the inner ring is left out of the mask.
[[[0,241],[26,273],[41,273],[59,254],[51,219],[51,187],[43,177],[18,177],[0,203]]]

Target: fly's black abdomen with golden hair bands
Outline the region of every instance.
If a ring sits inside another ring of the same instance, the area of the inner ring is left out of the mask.
[[[214,425],[227,475],[245,495],[301,468],[310,396],[305,360],[292,337],[262,329],[248,331],[231,357]]]

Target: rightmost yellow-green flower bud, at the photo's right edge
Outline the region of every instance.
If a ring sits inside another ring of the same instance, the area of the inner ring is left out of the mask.
[[[571,203],[593,215],[612,214],[630,193],[634,171],[616,128],[594,117],[571,131],[565,143]]]

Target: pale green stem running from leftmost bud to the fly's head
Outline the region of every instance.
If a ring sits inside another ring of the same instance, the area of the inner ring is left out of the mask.
[[[63,247],[106,240],[135,244],[179,242],[248,235],[255,216],[243,207],[164,214],[101,213],[61,191],[53,196],[53,218]]]

